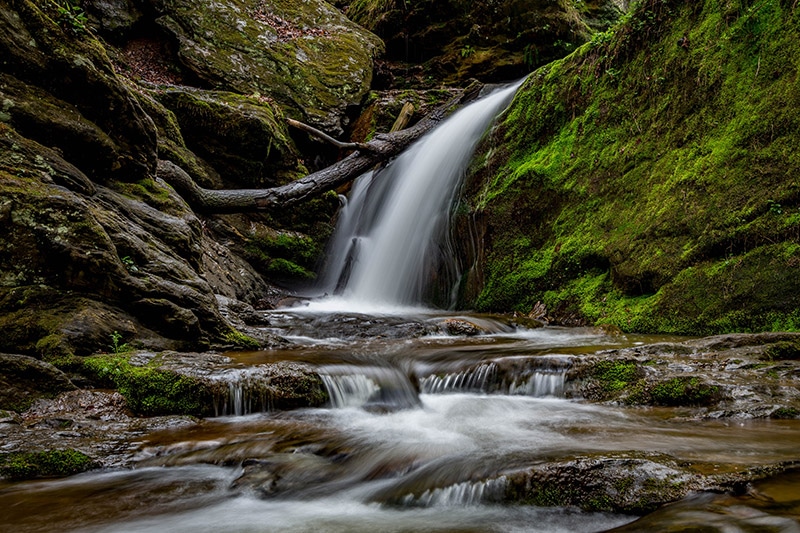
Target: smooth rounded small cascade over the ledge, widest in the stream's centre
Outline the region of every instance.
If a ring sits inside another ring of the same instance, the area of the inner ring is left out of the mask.
[[[319,370],[331,406],[408,409],[419,405],[411,380],[392,367],[338,365]]]

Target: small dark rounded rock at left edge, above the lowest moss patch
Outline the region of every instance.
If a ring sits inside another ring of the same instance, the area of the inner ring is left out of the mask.
[[[44,361],[0,353],[0,409],[21,413],[37,398],[53,398],[75,388],[63,372]]]

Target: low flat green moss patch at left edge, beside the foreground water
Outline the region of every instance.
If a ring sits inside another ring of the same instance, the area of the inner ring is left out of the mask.
[[[85,472],[92,459],[70,448],[42,452],[0,454],[0,475],[15,481],[41,477],[65,477]]]

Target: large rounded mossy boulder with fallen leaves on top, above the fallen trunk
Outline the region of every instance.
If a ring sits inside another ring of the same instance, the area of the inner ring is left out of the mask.
[[[321,0],[155,3],[183,65],[215,89],[269,96],[294,118],[341,134],[369,90],[380,39]]]

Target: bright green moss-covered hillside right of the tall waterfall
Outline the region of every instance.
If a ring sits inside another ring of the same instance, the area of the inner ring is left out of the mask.
[[[799,69],[794,0],[646,0],[536,71],[475,165],[464,303],[798,329]]]

